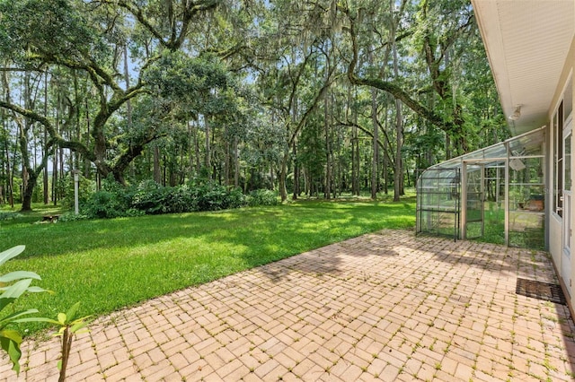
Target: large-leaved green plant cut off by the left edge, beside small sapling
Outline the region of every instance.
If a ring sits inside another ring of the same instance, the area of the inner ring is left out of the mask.
[[[0,266],[11,258],[20,255],[24,248],[24,246],[16,246],[0,253]],[[0,347],[10,357],[10,361],[13,364],[12,369],[16,374],[20,374],[22,335],[17,330],[8,328],[8,326],[22,322],[41,321],[42,319],[24,317],[38,313],[38,309],[30,308],[15,311],[13,308],[12,312],[9,312],[8,307],[13,307],[14,301],[25,292],[46,291],[40,287],[31,286],[32,280],[40,280],[40,276],[37,273],[28,271],[16,271],[0,276],[0,291],[2,291],[0,295]]]

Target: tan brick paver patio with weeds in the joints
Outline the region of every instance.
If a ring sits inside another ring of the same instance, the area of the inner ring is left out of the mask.
[[[572,380],[569,309],[547,254],[385,230],[150,300],[75,340],[68,380]],[[22,373],[57,380],[58,343]]]

